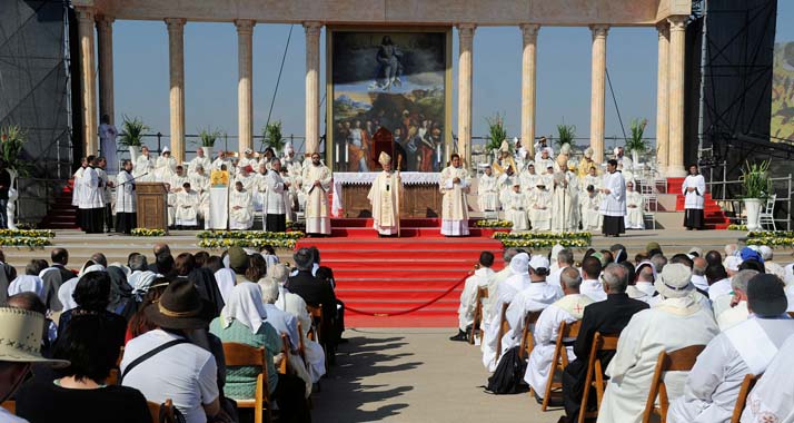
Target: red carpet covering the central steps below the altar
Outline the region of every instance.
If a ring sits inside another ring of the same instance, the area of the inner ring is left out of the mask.
[[[378,238],[371,219],[333,219],[331,225],[331,237],[302,239],[296,248],[317,246],[321,265],[334,269],[348,327],[455,327],[463,284],[423,305],[473,270],[483,250],[496,256],[494,268],[503,266],[502,243],[490,238],[489,229],[447,238],[439,233],[440,219],[403,219],[404,237]],[[417,306],[423,307],[385,316]]]

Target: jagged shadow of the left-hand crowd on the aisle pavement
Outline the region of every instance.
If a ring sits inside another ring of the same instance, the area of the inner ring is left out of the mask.
[[[354,332],[355,333],[355,332]],[[351,333],[347,333],[353,335]],[[337,364],[330,366],[328,376],[320,381],[321,391],[312,394],[312,420],[317,422],[377,422],[397,415],[407,403],[397,402],[413,386],[393,386],[364,380],[375,375],[404,372],[418,367],[421,362],[405,361],[411,353],[396,353],[406,345],[403,336],[367,338],[353,336],[339,346]],[[390,353],[391,352],[391,353]],[[378,405],[383,404],[383,405]]]

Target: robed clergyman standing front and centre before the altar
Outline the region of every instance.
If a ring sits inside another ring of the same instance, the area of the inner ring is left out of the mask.
[[[399,205],[403,197],[403,179],[391,171],[391,157],[380,151],[378,163],[384,171],[373,181],[367,199],[373,206],[373,229],[378,235],[399,235]]]

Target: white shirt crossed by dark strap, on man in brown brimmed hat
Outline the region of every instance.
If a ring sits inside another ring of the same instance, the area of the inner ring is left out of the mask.
[[[161,329],[149,331],[132,338],[125,347],[121,373],[149,351],[178,338]],[[185,414],[188,423],[205,423],[202,404],[218,399],[218,367],[208,351],[193,344],[179,344],[165,350],[136,366],[125,376],[123,385],[140,391],[148,401],[163,403],[167,399]]]

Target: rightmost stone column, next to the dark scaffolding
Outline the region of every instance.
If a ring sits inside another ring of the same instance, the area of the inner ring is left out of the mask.
[[[669,21],[669,151],[667,176],[686,176],[684,169],[684,43],[686,38],[685,16],[672,16]]]

